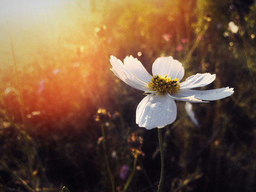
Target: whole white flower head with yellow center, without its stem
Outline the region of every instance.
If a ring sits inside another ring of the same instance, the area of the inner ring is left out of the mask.
[[[116,57],[110,57],[114,74],[135,89],[149,93],[139,103],[136,110],[136,123],[140,127],[162,128],[175,121],[177,106],[175,100],[186,102],[208,102],[222,99],[234,93],[233,88],[225,87],[215,90],[192,90],[212,83],[215,74],[196,74],[180,83],[184,68],[172,57],[157,58],[152,66],[151,76],[141,62],[132,56],[126,57],[124,63]]]

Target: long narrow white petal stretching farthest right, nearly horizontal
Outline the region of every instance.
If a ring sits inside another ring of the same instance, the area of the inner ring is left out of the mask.
[[[234,88],[220,88],[214,90],[180,90],[178,94],[183,95],[183,97],[190,97],[193,96],[197,99],[202,99],[206,101],[213,101],[217,99],[222,99],[230,96],[234,93]]]

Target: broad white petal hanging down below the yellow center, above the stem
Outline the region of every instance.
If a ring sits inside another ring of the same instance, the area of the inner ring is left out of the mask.
[[[177,106],[173,99],[167,95],[152,93],[139,103],[136,110],[136,123],[140,127],[153,129],[162,128],[175,121]]]

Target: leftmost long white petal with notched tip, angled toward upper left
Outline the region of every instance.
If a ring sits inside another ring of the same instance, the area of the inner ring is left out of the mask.
[[[113,57],[112,55],[110,56],[110,63],[112,65],[112,68],[110,70],[113,71],[113,73],[123,82],[134,87],[135,89],[146,91],[146,92],[152,92],[148,90],[149,89],[148,83],[150,79],[148,82],[145,82],[144,81],[145,79],[140,79],[140,77],[136,76],[138,74],[136,75],[133,74],[135,69],[131,70],[132,67],[127,68],[126,67],[127,65],[124,66],[121,60],[117,59],[116,57]],[[135,66],[135,64],[133,65]],[[140,67],[141,63],[137,62],[137,65],[139,66],[138,69],[141,71],[141,67]],[[148,73],[146,69],[145,69],[145,73]]]

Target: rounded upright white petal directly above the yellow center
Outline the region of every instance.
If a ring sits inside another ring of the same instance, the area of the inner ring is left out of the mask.
[[[184,68],[178,60],[172,57],[157,58],[152,66],[153,75],[161,75],[171,78],[178,78],[181,81],[184,75]]]

